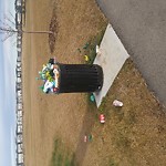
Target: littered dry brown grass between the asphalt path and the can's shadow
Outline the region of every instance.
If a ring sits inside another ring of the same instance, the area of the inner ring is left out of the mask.
[[[122,108],[113,106],[115,98],[123,101]],[[95,147],[100,158],[92,165],[166,165],[165,110],[149,93],[132,60],[126,61],[96,112],[105,114],[106,123],[94,124],[89,153]]]

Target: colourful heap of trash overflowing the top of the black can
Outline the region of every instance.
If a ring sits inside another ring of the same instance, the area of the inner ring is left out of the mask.
[[[55,59],[50,59],[46,64],[43,64],[41,71],[39,71],[38,80],[42,80],[43,84],[40,86],[44,93],[59,93],[59,65]]]

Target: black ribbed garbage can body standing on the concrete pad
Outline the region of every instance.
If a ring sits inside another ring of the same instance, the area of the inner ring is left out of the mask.
[[[96,92],[103,86],[103,70],[97,64],[58,64],[59,93]]]

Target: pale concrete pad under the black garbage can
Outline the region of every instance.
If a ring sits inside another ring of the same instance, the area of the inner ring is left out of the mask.
[[[98,93],[94,93],[97,107],[128,58],[126,50],[111,24],[106,28],[100,45],[100,51],[101,55],[96,55],[94,64],[102,66],[104,72],[104,83],[102,90]]]

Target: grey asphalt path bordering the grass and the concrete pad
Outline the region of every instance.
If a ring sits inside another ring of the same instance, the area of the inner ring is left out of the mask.
[[[151,91],[166,106],[166,1],[96,0]]]

